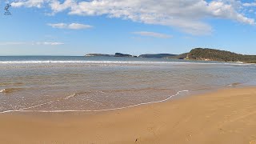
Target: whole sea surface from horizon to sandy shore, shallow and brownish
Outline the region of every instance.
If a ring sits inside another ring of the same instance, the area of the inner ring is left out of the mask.
[[[158,58],[0,57],[0,113],[114,110],[255,84],[254,64]]]

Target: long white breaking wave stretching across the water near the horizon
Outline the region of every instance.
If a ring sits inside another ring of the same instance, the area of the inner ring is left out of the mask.
[[[159,61],[0,61],[0,64],[44,64],[44,63],[88,63],[88,64],[195,64],[195,65],[231,65],[256,66],[250,63],[236,62],[159,62]]]

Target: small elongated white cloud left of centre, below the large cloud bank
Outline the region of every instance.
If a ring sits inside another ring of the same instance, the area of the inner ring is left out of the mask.
[[[90,25],[84,25],[80,23],[48,23],[48,26],[51,26],[53,28],[58,28],[58,29],[71,29],[71,30],[80,30],[80,29],[89,29],[92,28],[93,26]]]

